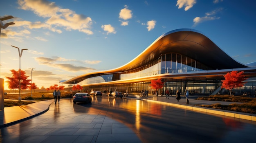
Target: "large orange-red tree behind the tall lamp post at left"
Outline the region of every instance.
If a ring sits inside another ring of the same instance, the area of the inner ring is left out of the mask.
[[[10,70],[12,73],[12,77],[6,77],[9,79],[9,81],[6,81],[8,83],[8,88],[10,89],[27,89],[28,85],[31,80],[27,79],[29,76],[26,76],[26,73],[24,70]]]

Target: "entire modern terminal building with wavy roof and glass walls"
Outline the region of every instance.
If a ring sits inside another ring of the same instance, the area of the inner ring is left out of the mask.
[[[221,90],[223,75],[232,70],[244,71],[247,84],[234,91],[239,94],[251,92],[256,86],[256,67],[236,62],[223,52],[208,37],[193,29],[177,29],[160,36],[135,59],[119,68],[88,73],[63,81],[63,84],[79,83],[84,90],[117,90],[139,94],[141,90],[153,92],[149,84],[161,78],[163,89],[177,89],[184,93],[210,95]],[[161,93],[161,91],[159,91]]]

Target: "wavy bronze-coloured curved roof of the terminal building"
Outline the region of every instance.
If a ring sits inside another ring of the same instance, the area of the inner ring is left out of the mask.
[[[63,84],[79,83],[86,78],[104,75],[106,73],[121,73],[145,66],[165,53],[179,53],[191,57],[213,69],[246,68],[236,62],[208,37],[193,29],[177,29],[157,38],[148,48],[137,57],[119,68],[92,72],[74,77]]]

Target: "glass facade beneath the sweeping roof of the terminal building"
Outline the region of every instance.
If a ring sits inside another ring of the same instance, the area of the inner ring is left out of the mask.
[[[229,91],[225,89],[220,89],[221,77],[207,77],[200,76],[194,78],[173,78],[176,74],[198,72],[206,70],[216,70],[204,63],[198,62],[195,59],[187,57],[186,55],[181,55],[178,53],[168,53],[161,55],[152,62],[144,65],[140,68],[126,71],[123,73],[105,73],[104,75],[97,77],[90,77],[81,81],[79,84],[83,86],[85,92],[90,92],[91,90],[99,90],[101,92],[121,91],[125,92],[128,89],[129,94],[140,94],[141,90],[148,90],[149,95],[153,94],[154,90],[150,88],[151,80],[146,80],[155,75],[167,74],[164,78],[161,78],[164,82],[164,88],[159,89],[159,93],[162,91],[169,90],[172,95],[175,95],[177,89],[184,91],[185,88],[189,89],[191,95],[211,95],[211,94],[227,94]],[[170,75],[168,77],[168,74]],[[204,73],[202,73],[203,75]],[[172,75],[172,76],[171,76]],[[144,78],[145,80],[140,82],[136,79]],[[129,82],[125,82],[130,80]],[[134,81],[133,81],[134,80]],[[124,81],[122,84],[110,83],[109,81]],[[236,88],[233,92],[236,95],[240,94],[255,94],[256,79],[254,77],[247,79],[247,84],[242,88]],[[215,91],[217,91],[214,93]],[[160,95],[160,94],[159,94]],[[184,93],[182,93],[184,95]]]

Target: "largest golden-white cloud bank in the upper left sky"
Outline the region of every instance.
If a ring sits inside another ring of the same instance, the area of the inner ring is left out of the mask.
[[[47,28],[51,31],[62,33],[56,27],[63,27],[65,30],[78,30],[92,35],[90,30],[92,19],[85,15],[76,14],[70,9],[62,9],[55,2],[47,0],[18,0],[20,9],[33,11],[36,15],[46,18],[46,22],[16,21],[18,26],[27,26],[30,29]],[[53,28],[54,27],[54,28]]]

